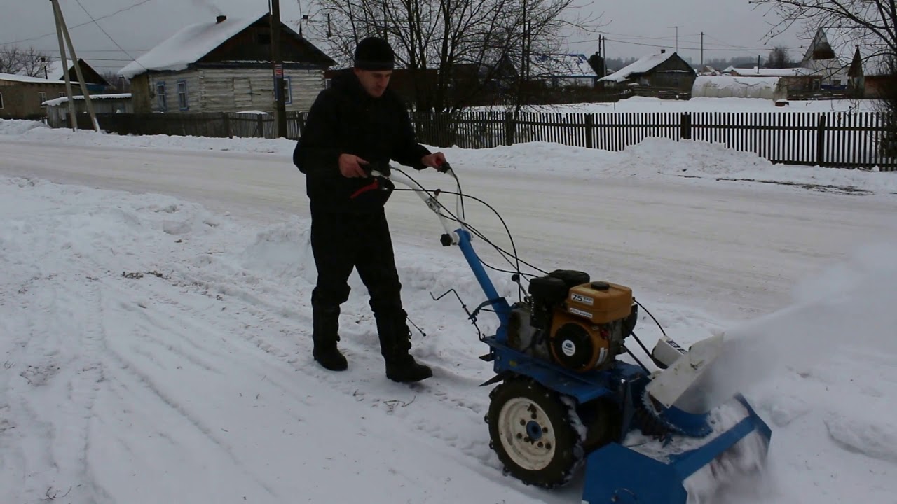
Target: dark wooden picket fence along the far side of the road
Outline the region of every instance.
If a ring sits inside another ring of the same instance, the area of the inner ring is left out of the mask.
[[[561,114],[468,111],[412,113],[422,143],[492,148],[551,142],[622,151],[649,137],[721,143],[776,163],[897,170],[897,133],[875,112],[605,112]],[[100,127],[122,135],[274,138],[274,118],[247,114],[100,114]],[[296,139],[304,112],[287,113]],[[86,114],[79,125],[90,127]]]

